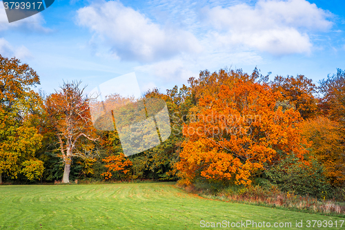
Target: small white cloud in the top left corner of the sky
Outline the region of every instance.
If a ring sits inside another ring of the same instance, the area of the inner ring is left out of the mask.
[[[40,13],[27,17],[26,19],[21,19],[19,21],[14,21],[9,23],[5,8],[3,8],[3,3],[0,3],[0,31],[10,30],[10,29],[21,29],[21,30],[34,30],[40,32],[51,32],[49,28],[43,27],[44,21]]]

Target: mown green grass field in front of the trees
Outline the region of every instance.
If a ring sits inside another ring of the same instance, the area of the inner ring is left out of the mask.
[[[223,220],[230,224],[241,220],[272,225],[291,222],[291,227],[270,229],[345,229],[345,224],[340,227],[345,217],[205,200],[173,183],[0,186],[0,230],[216,229],[201,228],[201,220],[205,224]],[[303,220],[302,228],[295,227],[296,220]],[[333,227],[317,227],[316,223],[313,228],[313,222],[306,227],[307,220],[327,220]],[[237,229],[268,228],[250,225]]]

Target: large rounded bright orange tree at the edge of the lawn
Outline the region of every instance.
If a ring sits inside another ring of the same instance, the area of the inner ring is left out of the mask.
[[[197,178],[249,185],[255,173],[293,153],[303,159],[308,144],[298,111],[277,107],[281,99],[267,84],[234,79],[219,92],[200,97],[176,168],[181,183]]]

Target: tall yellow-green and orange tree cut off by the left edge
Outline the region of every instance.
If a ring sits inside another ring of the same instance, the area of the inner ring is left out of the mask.
[[[23,173],[29,180],[43,173],[35,157],[42,137],[31,123],[41,105],[30,88],[37,84],[39,76],[28,64],[0,55],[0,184],[3,173],[11,178]]]

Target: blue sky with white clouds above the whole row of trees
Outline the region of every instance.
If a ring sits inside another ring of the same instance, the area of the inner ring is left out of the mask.
[[[55,0],[8,23],[0,4],[0,54],[17,57],[54,93],[86,92],[135,73],[141,92],[188,84],[200,70],[242,68],[305,75],[317,83],[345,68],[342,0]]]

